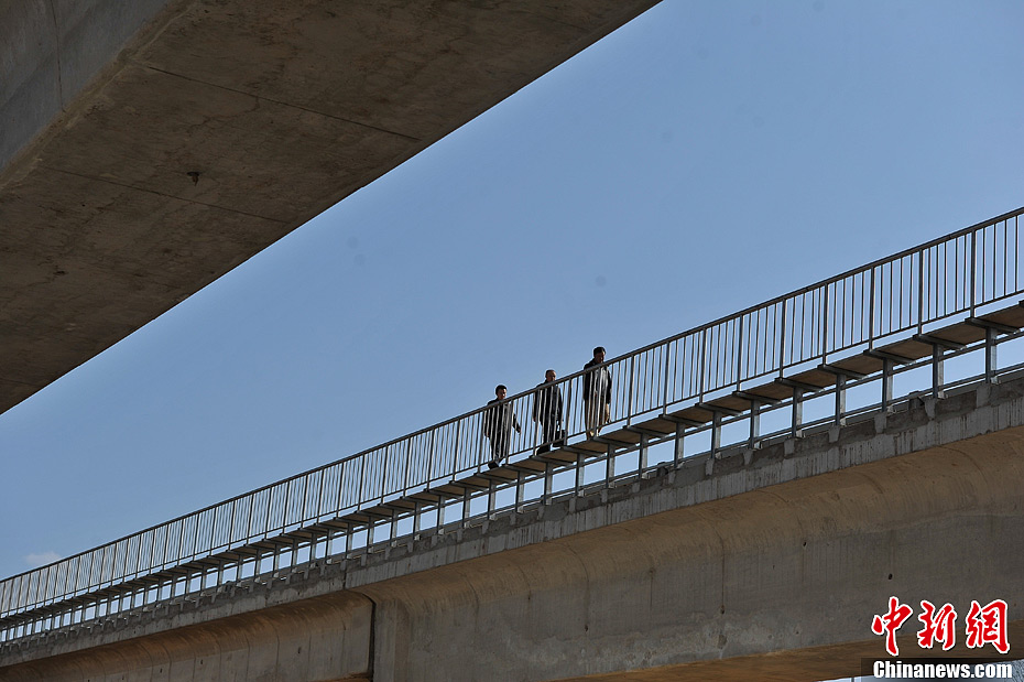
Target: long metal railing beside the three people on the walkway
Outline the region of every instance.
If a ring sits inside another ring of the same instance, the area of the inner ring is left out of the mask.
[[[516,457],[557,431],[698,404],[1022,292],[1024,208],[422,429],[0,581],[0,618],[367,511]],[[545,392],[547,391],[547,392]],[[540,408],[538,408],[540,405]],[[607,415],[600,407],[607,405]],[[540,414],[538,414],[540,411]],[[534,425],[536,424],[536,425]],[[438,516],[443,509],[438,511]],[[372,522],[367,522],[372,531]]]

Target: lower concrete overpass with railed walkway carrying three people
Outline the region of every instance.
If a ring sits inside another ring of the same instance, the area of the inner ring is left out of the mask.
[[[0,678],[818,680],[890,596],[1018,642],[1021,216],[508,398],[545,447],[482,408],[4,578]]]

